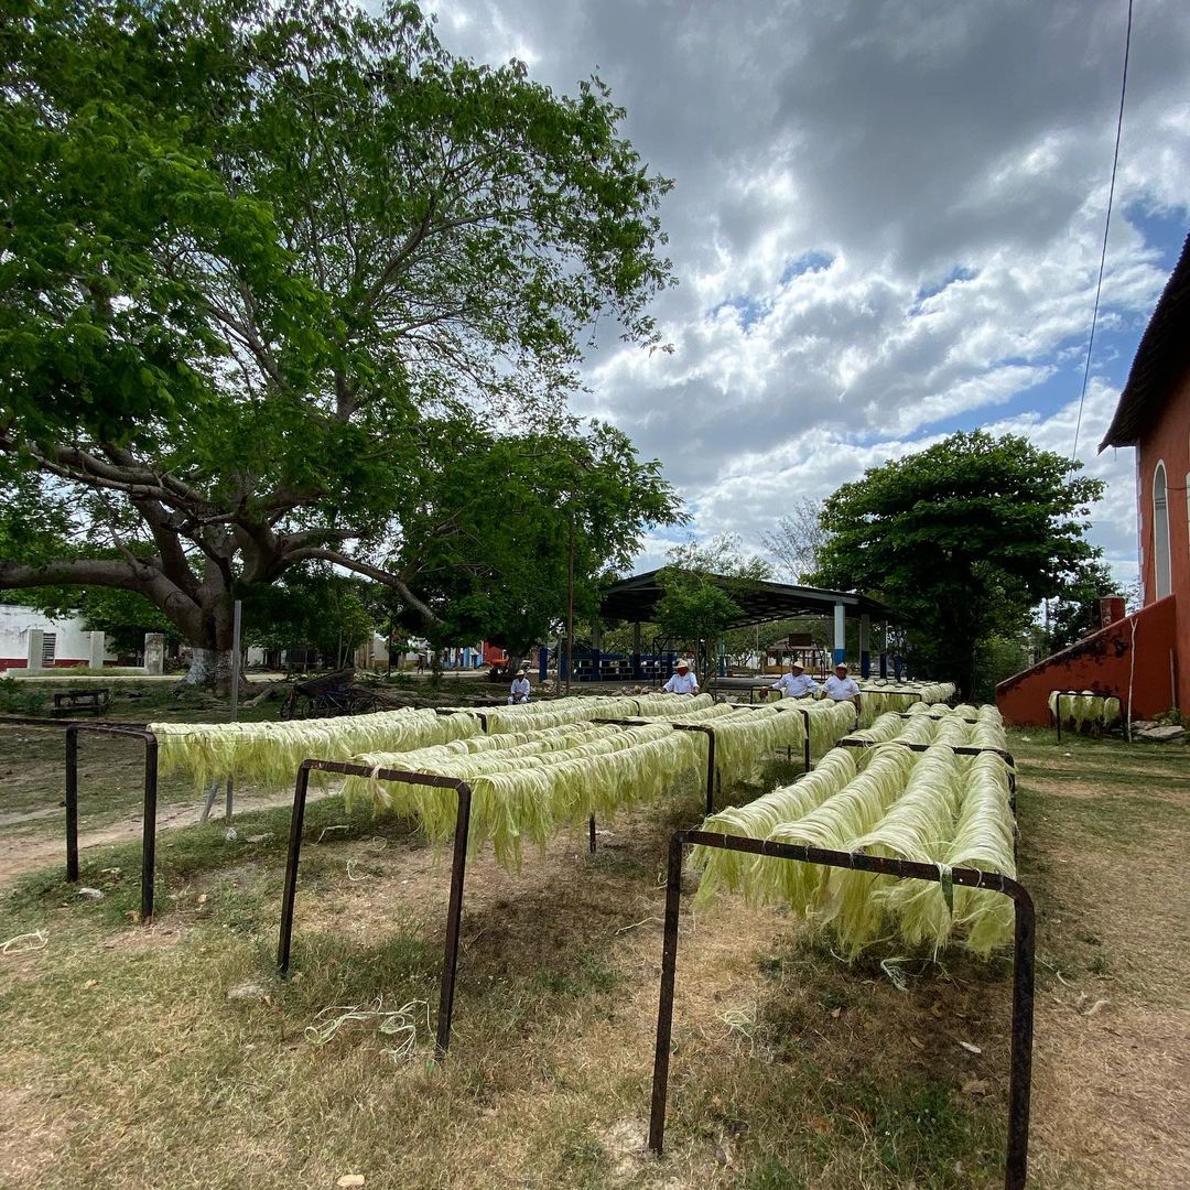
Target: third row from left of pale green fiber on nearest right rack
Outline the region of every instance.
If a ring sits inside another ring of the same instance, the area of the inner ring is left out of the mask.
[[[954,752],[934,744],[915,756],[904,791],[870,831],[847,840],[847,851],[929,863],[951,839],[962,778]],[[888,904],[878,892],[895,883],[892,876],[828,869],[819,919],[852,956],[883,933]]]

